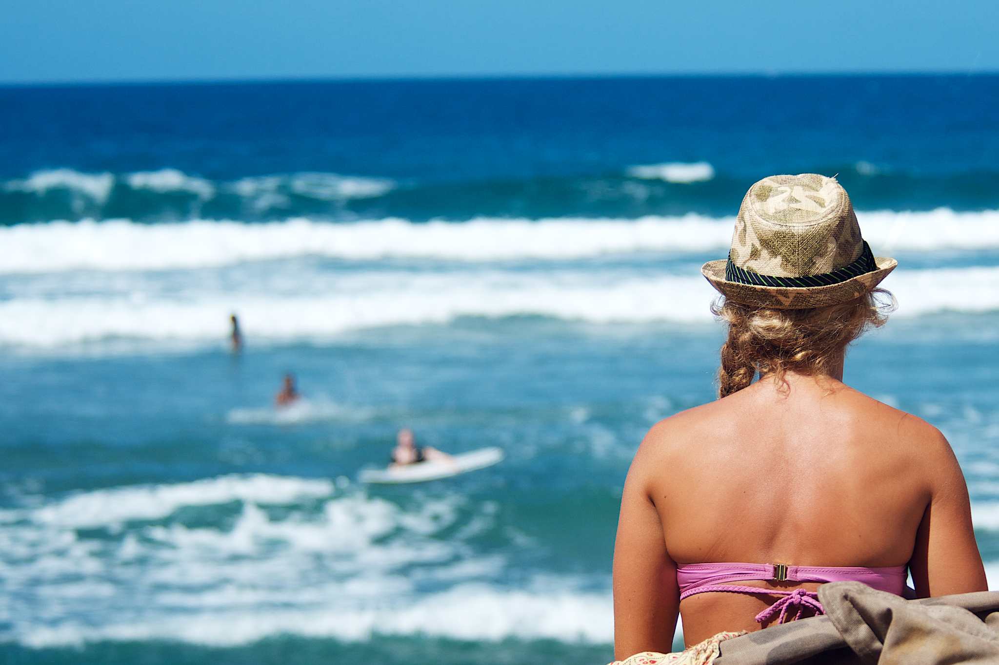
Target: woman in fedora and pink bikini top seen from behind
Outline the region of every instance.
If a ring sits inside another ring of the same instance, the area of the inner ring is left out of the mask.
[[[777,607],[821,611],[822,581],[901,593],[908,570],[920,596],[986,588],[947,441],[842,383],[847,346],[885,321],[873,291],[895,265],[834,178],[750,187],[728,258],[701,269],[724,296],[722,399],[653,427],[624,484],[618,657],[668,651],[679,611],[687,644],[765,627]]]

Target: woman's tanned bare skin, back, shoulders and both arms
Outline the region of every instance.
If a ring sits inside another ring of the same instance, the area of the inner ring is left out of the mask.
[[[631,463],[614,545],[614,653],[757,630],[777,596],[679,602],[676,565],[911,566],[919,597],[988,588],[957,459],[928,423],[829,376],[764,377],[671,416]],[[739,581],[761,588],[818,584]]]

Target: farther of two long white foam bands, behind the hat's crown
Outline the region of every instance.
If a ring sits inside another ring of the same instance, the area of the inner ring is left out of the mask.
[[[862,212],[875,253],[999,247],[999,210]],[[438,258],[467,262],[571,260],[635,252],[719,252],[733,219],[696,214],[638,219],[476,218],[333,223],[305,218],[246,224],[196,220],[50,222],[0,227],[0,273],[159,270],[295,256]]]

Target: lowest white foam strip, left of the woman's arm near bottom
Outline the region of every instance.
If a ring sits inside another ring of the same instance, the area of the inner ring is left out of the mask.
[[[507,591],[470,583],[420,599],[404,596],[350,608],[210,610],[104,625],[70,619],[51,627],[26,627],[16,640],[36,648],[152,639],[233,646],[276,635],[360,641],[376,635],[418,634],[602,644],[613,639],[613,612],[609,593]]]

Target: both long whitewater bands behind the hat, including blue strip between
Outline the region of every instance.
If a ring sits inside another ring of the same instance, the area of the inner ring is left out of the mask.
[[[896,316],[999,310],[999,211],[860,211]],[[265,223],[54,221],[0,227],[0,345],[213,345],[537,316],[703,324],[733,219],[475,218]]]

